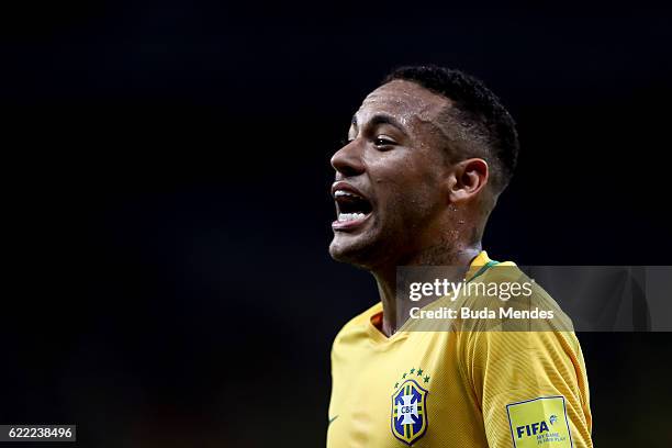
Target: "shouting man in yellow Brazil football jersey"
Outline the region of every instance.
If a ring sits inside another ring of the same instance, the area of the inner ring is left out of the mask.
[[[329,253],[370,271],[380,302],[334,341],[327,447],[592,446],[585,366],[571,329],[506,332],[455,320],[445,331],[414,331],[418,303],[396,294],[401,266],[453,267],[451,280],[464,284],[519,273],[481,248],[517,152],[509,114],[458,70],[401,68],[362,102],[332,158]],[[537,285],[529,300],[561,314]]]

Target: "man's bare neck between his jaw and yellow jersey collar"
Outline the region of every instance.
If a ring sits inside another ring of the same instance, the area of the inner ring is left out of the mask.
[[[378,293],[383,305],[382,333],[388,337],[393,335],[408,320],[408,312],[412,306],[418,306],[418,304],[427,305],[436,300],[434,299],[423,303],[411,303],[407,300],[399,300],[396,296],[397,266],[460,267],[463,268],[461,273],[450,270],[452,272],[452,277],[455,278],[447,279],[448,281],[459,281],[463,278],[463,275],[469,269],[471,261],[481,253],[481,250],[480,240],[468,245],[458,245],[457,247],[439,244],[421,250],[399,265],[385,266],[372,271],[371,273],[378,283]]]

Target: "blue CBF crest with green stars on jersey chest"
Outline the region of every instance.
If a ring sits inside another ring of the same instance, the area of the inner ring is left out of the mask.
[[[421,384],[429,382],[423,369],[411,369],[394,384],[392,394],[392,434],[406,445],[413,445],[427,430],[427,394]]]

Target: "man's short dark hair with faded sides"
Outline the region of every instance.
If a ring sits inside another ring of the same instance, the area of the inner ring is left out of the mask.
[[[470,154],[493,166],[499,193],[508,184],[518,159],[516,123],[500,99],[485,85],[463,71],[437,66],[407,66],[394,69],[383,83],[395,79],[412,81],[452,102],[446,117],[458,123],[470,139]],[[479,150],[480,149],[480,150]]]

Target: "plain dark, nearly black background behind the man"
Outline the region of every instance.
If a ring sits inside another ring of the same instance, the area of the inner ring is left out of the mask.
[[[323,446],[332,339],[377,300],[328,257],[328,160],[403,64],[477,75],[518,122],[491,256],[670,265],[671,11],[411,3],[2,7],[0,423]],[[580,339],[596,446],[669,446],[670,335]]]

